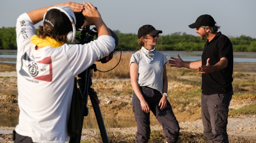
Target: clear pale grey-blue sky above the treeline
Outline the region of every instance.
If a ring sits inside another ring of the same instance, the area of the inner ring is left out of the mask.
[[[2,0],[0,28],[14,27],[22,13],[60,4],[63,0]],[[112,30],[135,33],[145,24],[162,30],[162,35],[186,32],[198,35],[189,24],[203,14],[211,15],[226,36],[256,38],[256,0],[90,0],[98,8],[103,21]],[[42,24],[42,22],[39,22]],[[39,24],[35,27],[38,28]],[[92,27],[91,27],[92,28]]]

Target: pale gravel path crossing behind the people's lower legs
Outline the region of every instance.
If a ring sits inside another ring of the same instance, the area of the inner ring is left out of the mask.
[[[203,133],[202,120],[193,122],[181,122],[179,123],[181,130],[185,132]],[[0,127],[0,142],[13,142],[11,141],[11,134],[14,127]],[[151,126],[151,130],[161,130],[161,126]],[[120,132],[122,134],[135,135],[137,127],[130,128],[109,128],[113,132]],[[83,129],[82,140],[90,139],[95,136],[97,129]],[[238,116],[228,119],[227,132],[229,140],[236,143],[253,143],[256,139],[256,115]],[[231,142],[231,141],[230,141]]]

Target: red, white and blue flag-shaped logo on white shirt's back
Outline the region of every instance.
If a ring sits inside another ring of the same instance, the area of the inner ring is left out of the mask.
[[[32,77],[41,81],[52,82],[52,58],[45,57],[40,61],[32,60],[27,53],[22,58],[22,66],[19,70],[20,75]]]

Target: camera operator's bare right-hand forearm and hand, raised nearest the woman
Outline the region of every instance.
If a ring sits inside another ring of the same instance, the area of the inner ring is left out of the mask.
[[[103,22],[100,13],[93,6],[93,4],[91,4],[90,2],[88,2],[88,4],[83,2],[83,6],[84,10],[82,11],[82,13],[87,21],[83,24],[82,28],[84,28],[85,26],[95,25],[98,32],[98,37],[101,35],[112,36],[108,27]]]

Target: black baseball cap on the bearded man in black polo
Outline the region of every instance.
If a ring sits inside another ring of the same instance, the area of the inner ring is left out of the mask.
[[[198,28],[201,26],[214,26],[215,21],[212,16],[208,14],[201,15],[197,18],[196,22],[193,24],[188,25],[189,28]]]

